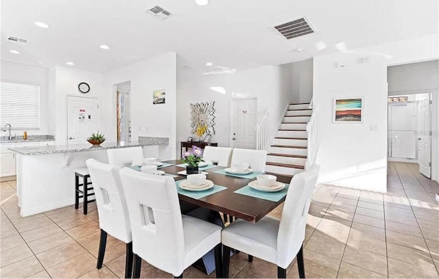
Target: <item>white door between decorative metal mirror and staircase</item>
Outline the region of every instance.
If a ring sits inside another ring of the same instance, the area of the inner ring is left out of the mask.
[[[256,98],[236,100],[234,116],[233,146],[256,149],[256,131],[254,131],[257,122]]]

